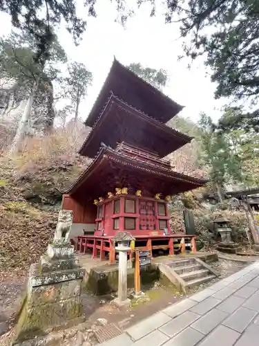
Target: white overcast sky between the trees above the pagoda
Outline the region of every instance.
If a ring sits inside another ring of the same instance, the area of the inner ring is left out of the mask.
[[[81,7],[79,10],[83,16],[86,10]],[[178,24],[164,24],[162,15],[150,17],[149,13],[150,8],[142,6],[123,28],[114,21],[116,12],[110,1],[102,1],[102,7],[97,7],[97,18],[87,18],[86,32],[77,47],[66,28],[59,29],[59,42],[68,58],[86,64],[93,73],[93,86],[79,109],[81,118],[86,119],[115,56],[125,65],[140,62],[143,66],[165,69],[170,80],[164,93],[185,106],[182,115],[198,120],[204,111],[217,120],[224,101],[214,100],[215,84],[207,75],[209,71],[205,70],[202,60],[195,62],[190,70],[188,60],[179,62],[182,42],[178,39]],[[0,35],[7,35],[11,29],[10,19],[0,15],[0,20]]]

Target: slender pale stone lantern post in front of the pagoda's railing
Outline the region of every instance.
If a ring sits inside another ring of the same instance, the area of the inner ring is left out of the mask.
[[[113,238],[113,242],[117,243],[115,250],[119,252],[118,298],[115,299],[115,303],[119,306],[130,302],[127,296],[127,260],[132,240],[135,238],[128,232],[118,232]]]

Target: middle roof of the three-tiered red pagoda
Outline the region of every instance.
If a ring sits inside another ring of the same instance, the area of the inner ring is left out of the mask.
[[[111,94],[79,154],[93,158],[102,142],[115,148],[125,141],[164,157],[191,139]]]

